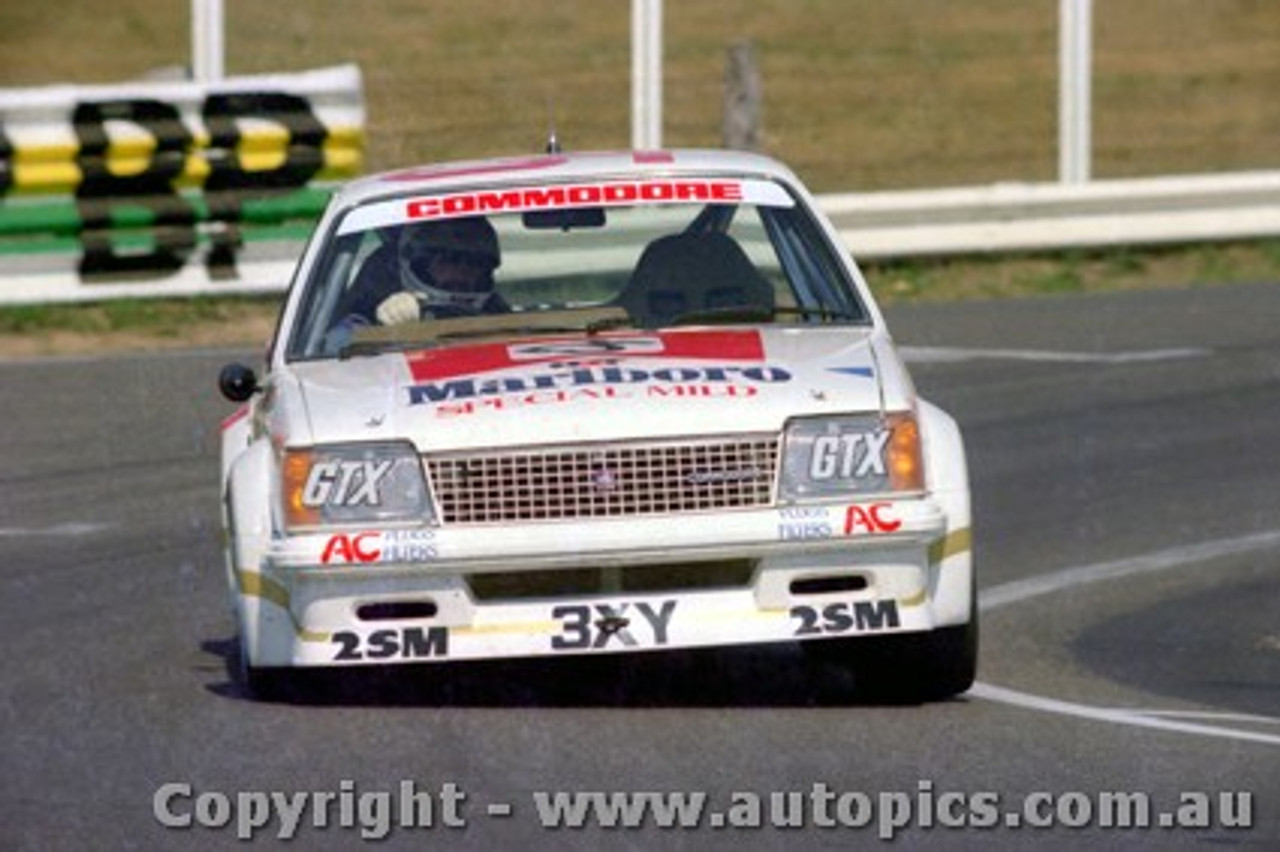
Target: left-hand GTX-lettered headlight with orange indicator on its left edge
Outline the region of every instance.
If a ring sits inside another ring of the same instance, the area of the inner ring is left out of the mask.
[[[284,452],[284,521],[308,527],[430,521],[411,444],[334,444]]]

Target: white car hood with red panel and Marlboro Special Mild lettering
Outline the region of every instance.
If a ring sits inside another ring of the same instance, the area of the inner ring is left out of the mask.
[[[873,327],[467,343],[303,362],[292,374],[314,443],[408,439],[424,452],[768,432],[797,414],[914,402]]]

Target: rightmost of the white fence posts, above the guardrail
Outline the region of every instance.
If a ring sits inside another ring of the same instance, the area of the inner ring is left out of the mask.
[[[1088,183],[1093,0],[1059,0],[1059,151],[1062,183]]]

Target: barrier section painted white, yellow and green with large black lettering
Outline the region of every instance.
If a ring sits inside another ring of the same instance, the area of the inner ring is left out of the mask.
[[[0,303],[280,292],[364,143],[355,65],[0,90]]]

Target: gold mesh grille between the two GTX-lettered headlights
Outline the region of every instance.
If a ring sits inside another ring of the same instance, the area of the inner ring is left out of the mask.
[[[442,523],[681,514],[769,505],[777,435],[426,458]]]

